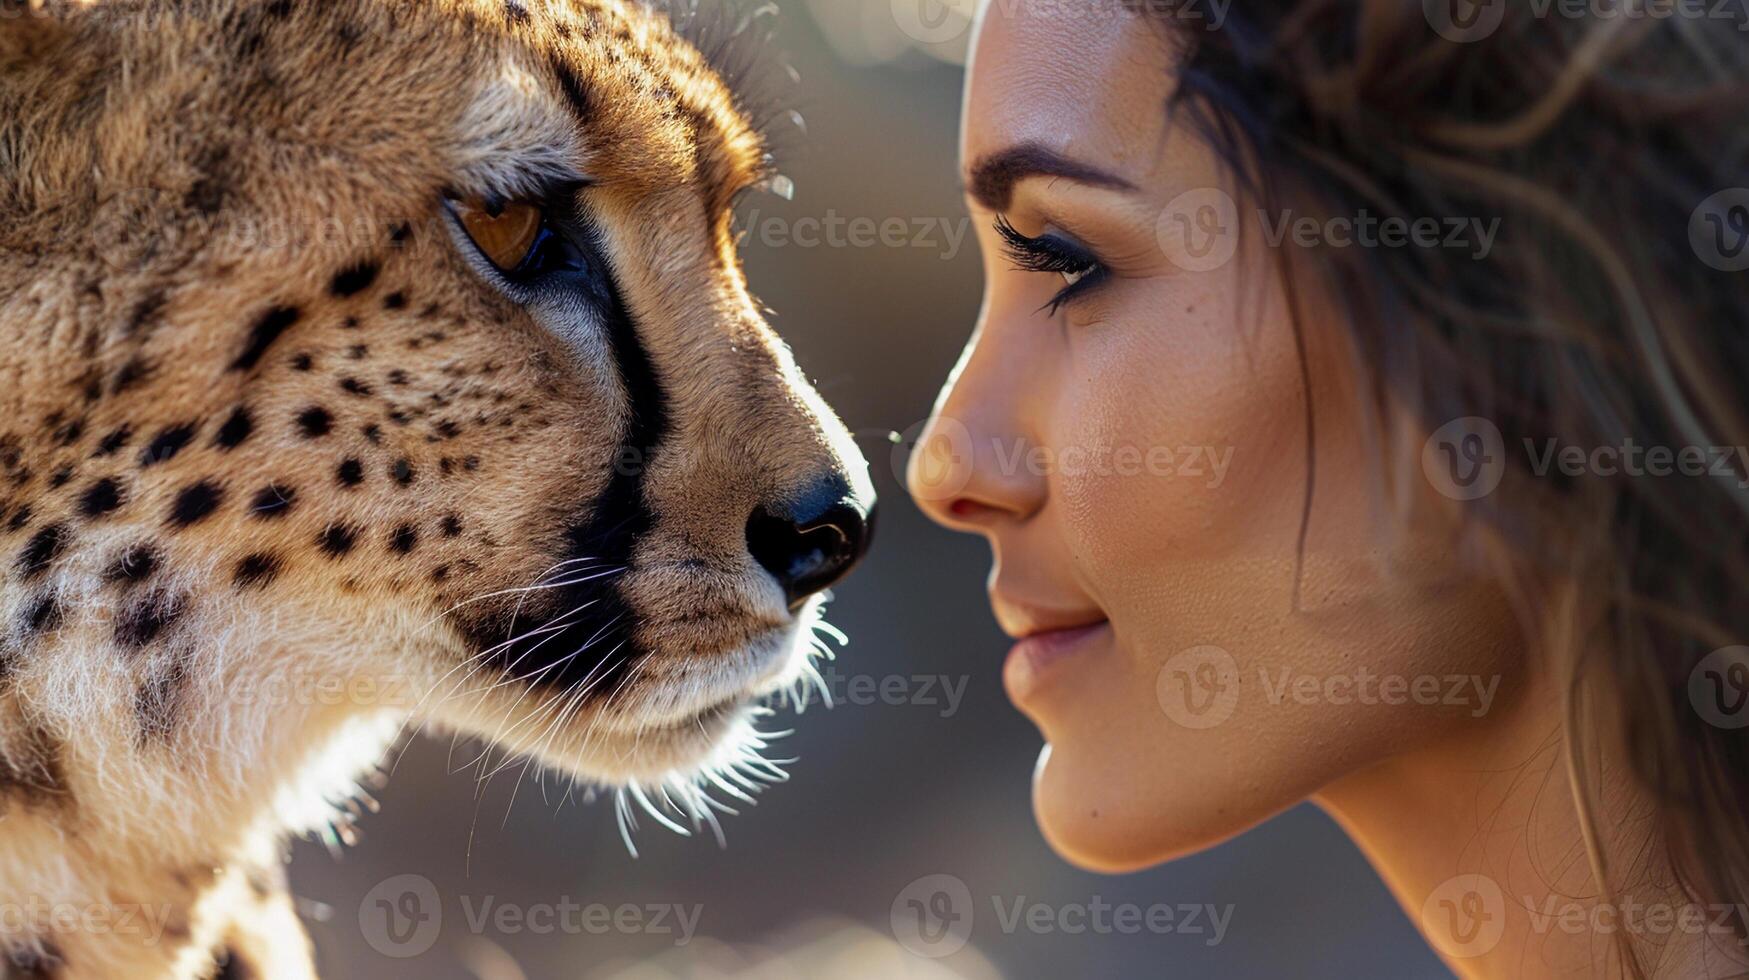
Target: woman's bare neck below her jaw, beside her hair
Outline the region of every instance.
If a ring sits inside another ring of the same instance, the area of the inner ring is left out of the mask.
[[[1560,719],[1536,691],[1315,802],[1466,980],[1634,976],[1623,940],[1648,978],[1746,975],[1732,910],[1681,889],[1648,796],[1611,760],[1588,765],[1600,887]]]

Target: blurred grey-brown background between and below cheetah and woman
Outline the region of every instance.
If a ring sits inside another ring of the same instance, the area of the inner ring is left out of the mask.
[[[874,553],[829,611],[852,637],[827,670],[838,705],[777,719],[792,780],[724,821],[726,849],[644,821],[637,859],[610,800],[519,766],[481,788],[477,746],[415,740],[359,845],[296,845],[322,975],[1450,976],[1312,807],[1130,877],[1044,845],[988,551],[923,520],[888,441],[927,416],[978,312],[955,166],[969,4],[775,7],[806,131],[777,124],[794,194],[742,206],[747,268],[881,495]]]

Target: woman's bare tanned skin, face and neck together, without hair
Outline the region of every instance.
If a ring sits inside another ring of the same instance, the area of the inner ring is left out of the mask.
[[[1313,800],[1462,976],[1620,975],[1620,931],[1656,976],[1739,973],[1716,933],[1677,924],[1712,915],[1641,852],[1627,786],[1595,814],[1621,831],[1600,908],[1536,639],[1459,558],[1417,457],[1385,506],[1397,450],[1369,441],[1340,331],[1313,306],[1301,352],[1268,256],[1202,268],[1170,220],[1181,194],[1230,186],[1168,128],[1172,86],[1170,46],[1116,5],[988,5],[978,26],[962,159],[985,306],[911,492],[992,546],[992,607],[1020,640],[1004,682],[1048,742],[1044,835],[1123,872]],[[1018,268],[999,219],[1093,264]]]

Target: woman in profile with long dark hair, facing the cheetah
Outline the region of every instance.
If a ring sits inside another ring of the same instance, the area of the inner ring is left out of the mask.
[[[1067,859],[1310,798],[1464,976],[1749,970],[1723,16],[986,7],[911,490],[992,546]]]

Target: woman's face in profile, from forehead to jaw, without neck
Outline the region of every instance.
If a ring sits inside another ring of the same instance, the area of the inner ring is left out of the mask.
[[[1443,508],[1380,534],[1364,385],[1315,304],[1301,355],[1256,208],[1168,130],[1165,35],[1116,4],[1007,7],[962,138],[985,306],[911,490],[990,541],[1044,833],[1125,870],[1485,723],[1522,656]]]

